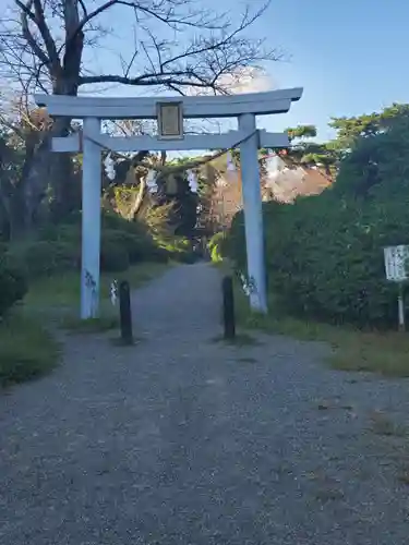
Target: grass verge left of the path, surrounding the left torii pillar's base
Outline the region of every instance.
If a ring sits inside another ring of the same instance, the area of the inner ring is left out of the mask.
[[[13,312],[0,320],[0,387],[41,376],[52,370],[60,355],[59,343],[43,327],[57,325],[75,332],[103,332],[119,326],[118,307],[109,301],[113,279],[129,280],[135,289],[164,272],[169,264],[144,263],[125,272],[103,275],[100,317],[77,318],[80,274],[67,272],[32,282],[29,291]]]

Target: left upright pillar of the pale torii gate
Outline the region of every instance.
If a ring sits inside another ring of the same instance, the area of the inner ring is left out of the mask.
[[[100,148],[86,138],[97,138],[100,121],[84,119],[83,184],[82,184],[82,259],[81,259],[81,317],[94,318],[99,306],[100,253]]]

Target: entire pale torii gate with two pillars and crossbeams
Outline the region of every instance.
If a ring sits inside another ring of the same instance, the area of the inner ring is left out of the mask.
[[[240,143],[251,307],[267,312],[266,275],[257,149],[289,145],[285,133],[257,130],[255,116],[284,113],[299,100],[302,88],[232,96],[199,97],[72,97],[36,95],[52,117],[83,119],[83,144],[74,134],[52,140],[53,152],[83,152],[81,317],[98,314],[100,256],[101,152],[230,149]],[[185,135],[183,119],[238,118],[239,129],[225,134]],[[157,119],[158,136],[101,134],[101,119]],[[98,145],[99,144],[99,145]]]

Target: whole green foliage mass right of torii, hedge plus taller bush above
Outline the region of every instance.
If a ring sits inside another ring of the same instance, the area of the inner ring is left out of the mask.
[[[396,325],[397,290],[383,247],[409,244],[409,119],[357,141],[333,189],[264,205],[269,290],[298,316],[360,327]],[[227,250],[245,266],[243,217]]]

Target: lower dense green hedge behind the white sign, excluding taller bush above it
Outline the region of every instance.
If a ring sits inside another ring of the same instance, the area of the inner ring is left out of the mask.
[[[383,247],[409,243],[409,198],[321,196],[264,205],[269,291],[286,312],[329,323],[396,324],[396,287],[385,280]],[[227,251],[245,267],[242,216]]]

